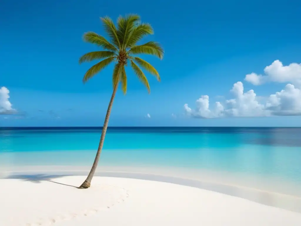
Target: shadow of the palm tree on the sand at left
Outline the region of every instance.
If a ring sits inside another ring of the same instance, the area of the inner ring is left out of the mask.
[[[70,185],[70,184],[63,184],[63,183],[59,183],[56,181],[53,181],[52,179],[55,178],[59,178],[59,177],[67,177],[67,176],[71,176],[71,175],[50,175],[50,174],[14,174],[14,175],[10,175],[8,177],[6,177],[6,179],[19,179],[19,180],[25,180],[25,181],[29,181],[32,183],[41,183],[42,181],[49,181],[55,184],[61,184],[61,185],[65,185],[65,186],[69,186],[69,187],[75,187],[78,188],[76,186]]]

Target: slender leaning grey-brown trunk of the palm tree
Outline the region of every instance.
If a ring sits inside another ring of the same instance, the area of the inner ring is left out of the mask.
[[[97,167],[99,157],[100,157],[100,154],[101,154],[101,149],[102,149],[102,146],[104,146],[104,137],[106,136],[107,127],[108,127],[109,118],[110,118],[110,113],[111,113],[111,109],[112,109],[112,105],[113,105],[113,101],[114,101],[114,98],[115,98],[116,91],[117,91],[117,85],[113,89],[113,93],[112,93],[111,100],[110,100],[110,103],[109,103],[109,106],[108,106],[106,118],[104,119],[104,126],[102,128],[101,137],[100,137],[98,150],[97,150],[97,153],[96,153],[96,156],[95,156],[94,163],[92,165],[90,173],[88,174],[87,179],[82,183],[81,186],[79,186],[79,188],[89,188],[90,185],[91,185],[91,180],[92,180],[92,178],[95,174],[95,171],[96,171],[96,167]]]

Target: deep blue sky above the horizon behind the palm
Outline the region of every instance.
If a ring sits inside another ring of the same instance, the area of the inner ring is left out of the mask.
[[[83,42],[82,34],[104,34],[99,17],[116,21],[128,13],[152,24],[155,34],[145,42],[163,45],[162,61],[144,57],[162,81],[147,74],[148,95],[129,68],[128,92],[118,91],[109,126],[301,126],[300,116],[291,116],[301,111],[300,2],[130,2],[2,1],[0,87],[9,90],[12,109],[26,114],[2,114],[0,126],[101,126],[112,92],[112,67],[82,84],[93,64],[79,65],[78,59],[98,49]],[[283,66],[275,63],[264,71],[276,60]],[[258,75],[245,80],[252,72]],[[239,81],[244,93],[254,90],[253,102],[230,91]],[[287,88],[277,96],[277,106],[269,105],[269,96],[287,84],[295,89]],[[203,95],[209,96],[209,110],[204,102],[196,105]],[[228,106],[229,99],[236,100],[235,106]],[[218,113],[217,101],[223,106]],[[254,101],[260,106],[253,107]]]

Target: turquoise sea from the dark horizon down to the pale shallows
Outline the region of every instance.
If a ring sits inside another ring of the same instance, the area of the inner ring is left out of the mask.
[[[91,165],[99,128],[0,129],[1,165]],[[109,128],[101,165],[185,167],[301,183],[301,128]]]

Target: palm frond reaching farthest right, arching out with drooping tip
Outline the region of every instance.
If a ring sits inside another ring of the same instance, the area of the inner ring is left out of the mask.
[[[140,46],[133,46],[129,53],[132,54],[150,54],[155,55],[162,60],[164,50],[158,42],[147,42]]]

